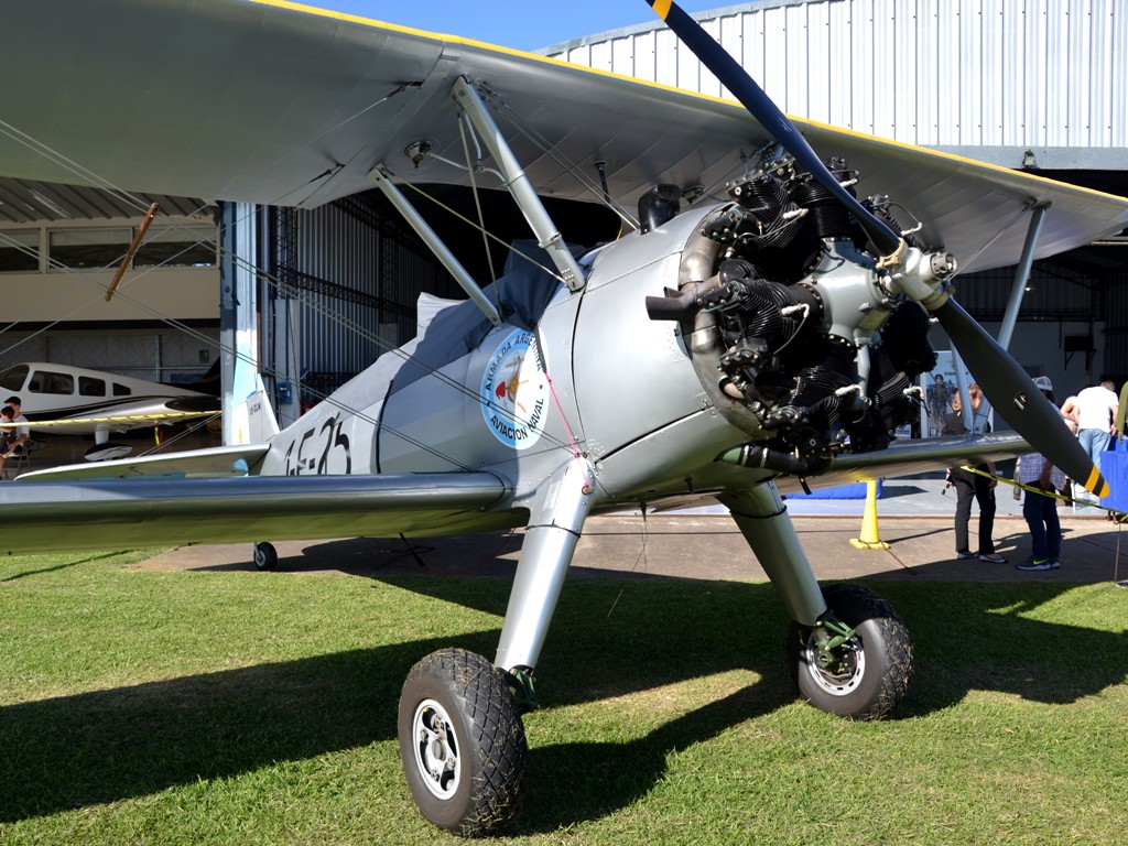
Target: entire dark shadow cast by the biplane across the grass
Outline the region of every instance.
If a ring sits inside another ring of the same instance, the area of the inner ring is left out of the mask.
[[[508,600],[504,579],[369,575],[377,590],[386,581],[497,615]],[[1070,585],[881,587],[915,634],[917,671],[898,716],[927,715],[978,689],[1070,703],[1123,681],[1107,656],[1125,653],[1128,634],[1019,616]],[[530,795],[552,791],[554,801],[531,801],[517,831],[557,830],[628,807],[663,777],[671,752],[795,702],[786,624],[767,583],[573,580],[541,656],[545,713],[734,669],[756,678],[633,741],[571,742],[562,732],[535,744]],[[966,633],[984,629],[990,636],[968,650]],[[416,660],[452,640],[488,656],[497,637],[411,640],[0,708],[0,822],[394,740],[400,680]]]

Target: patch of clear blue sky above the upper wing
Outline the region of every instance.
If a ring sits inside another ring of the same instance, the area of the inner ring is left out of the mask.
[[[41,0],[42,1],[42,0]],[[299,0],[309,6],[362,15],[390,24],[538,50],[584,35],[656,21],[645,0]],[[734,0],[685,0],[686,11],[731,6]]]

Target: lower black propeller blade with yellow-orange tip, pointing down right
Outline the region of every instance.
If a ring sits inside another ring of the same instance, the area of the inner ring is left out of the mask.
[[[1026,371],[955,300],[949,299],[933,314],[984,395],[1014,431],[1085,490],[1108,496],[1109,484],[1101,472]]]

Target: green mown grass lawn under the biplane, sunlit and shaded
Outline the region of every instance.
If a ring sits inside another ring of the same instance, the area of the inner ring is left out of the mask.
[[[0,843],[457,841],[407,794],[396,700],[432,650],[493,656],[508,581],[139,557],[0,559]],[[499,841],[1122,843],[1128,591],[874,587],[917,670],[861,724],[795,700],[766,584],[570,582]]]

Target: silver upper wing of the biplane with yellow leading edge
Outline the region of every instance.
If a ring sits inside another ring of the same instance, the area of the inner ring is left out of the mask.
[[[367,190],[380,162],[464,183],[464,170],[434,158],[416,170],[404,155],[424,139],[462,159],[458,76],[496,94],[541,194],[596,201],[576,174],[593,186],[606,161],[632,208],[658,182],[721,185],[772,140],[731,102],[281,0],[15,3],[5,33],[0,76],[19,83],[0,91],[0,175],[19,178],[289,205]],[[1039,255],[1128,224],[1119,197],[796,123],[861,171],[865,194],[911,197],[918,237],[964,270],[1015,263],[1022,226],[979,250],[1032,203],[1051,203]]]

